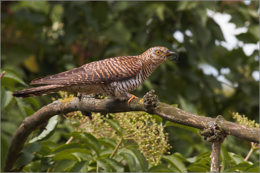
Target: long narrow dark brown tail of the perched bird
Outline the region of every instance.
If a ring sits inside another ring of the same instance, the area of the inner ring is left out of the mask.
[[[46,86],[16,91],[16,92],[13,92],[11,95],[14,97],[19,97],[19,98],[41,96],[41,95],[46,95],[46,94],[56,93],[58,91],[61,91],[61,87],[65,87],[65,86],[68,86],[68,85],[64,85],[64,84],[46,85]]]

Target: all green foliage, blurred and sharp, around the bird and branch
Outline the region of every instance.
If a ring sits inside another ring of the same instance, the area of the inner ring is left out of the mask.
[[[143,97],[154,89],[161,102],[198,115],[234,121],[231,111],[259,123],[259,81],[252,76],[259,74],[259,50],[247,56],[241,44],[232,50],[221,46],[225,38],[207,15],[209,10],[230,14],[236,27],[246,27],[246,33],[236,35],[244,44],[259,42],[259,1],[1,1],[1,171],[23,119],[58,97],[17,99],[10,92],[32,87],[28,83],[38,77],[106,58],[139,55],[153,46],[179,53],[179,61],[161,64],[132,94]],[[183,34],[183,42],[173,37],[175,32]],[[215,68],[217,74],[207,74],[205,67]],[[223,77],[229,82],[218,80]],[[156,166],[148,164],[135,145],[109,158],[116,139],[101,141],[91,133],[73,132],[62,116],[49,121],[48,132],[32,134],[15,166],[26,164],[23,171],[30,172],[209,171],[211,145],[197,129],[153,117],[170,134],[172,147]],[[65,144],[71,136],[81,137],[83,143]],[[221,171],[259,172],[259,149],[250,162],[243,161],[249,142],[228,136],[222,147]]]

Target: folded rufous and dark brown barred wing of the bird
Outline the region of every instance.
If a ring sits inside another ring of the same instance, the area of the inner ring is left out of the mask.
[[[94,84],[122,81],[137,76],[142,63],[134,56],[91,62],[79,68],[34,79],[31,84]]]

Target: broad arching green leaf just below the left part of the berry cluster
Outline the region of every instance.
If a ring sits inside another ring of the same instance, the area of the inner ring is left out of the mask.
[[[78,139],[78,140],[86,143],[87,146],[91,147],[96,152],[96,154],[99,156],[101,147],[98,142],[98,139],[96,139],[93,135],[86,133],[86,132],[83,132],[83,133],[73,132],[70,135],[72,137],[74,137],[75,139]]]

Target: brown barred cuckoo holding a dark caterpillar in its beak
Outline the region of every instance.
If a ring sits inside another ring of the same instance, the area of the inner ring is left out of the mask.
[[[128,99],[127,103],[130,104],[132,99],[138,98],[130,92],[137,89],[171,55],[175,55],[171,60],[177,62],[177,53],[156,46],[137,56],[95,61],[66,72],[34,79],[30,84],[47,85],[16,91],[11,95],[26,98],[72,91],[78,92],[78,96],[106,94],[111,101]]]

